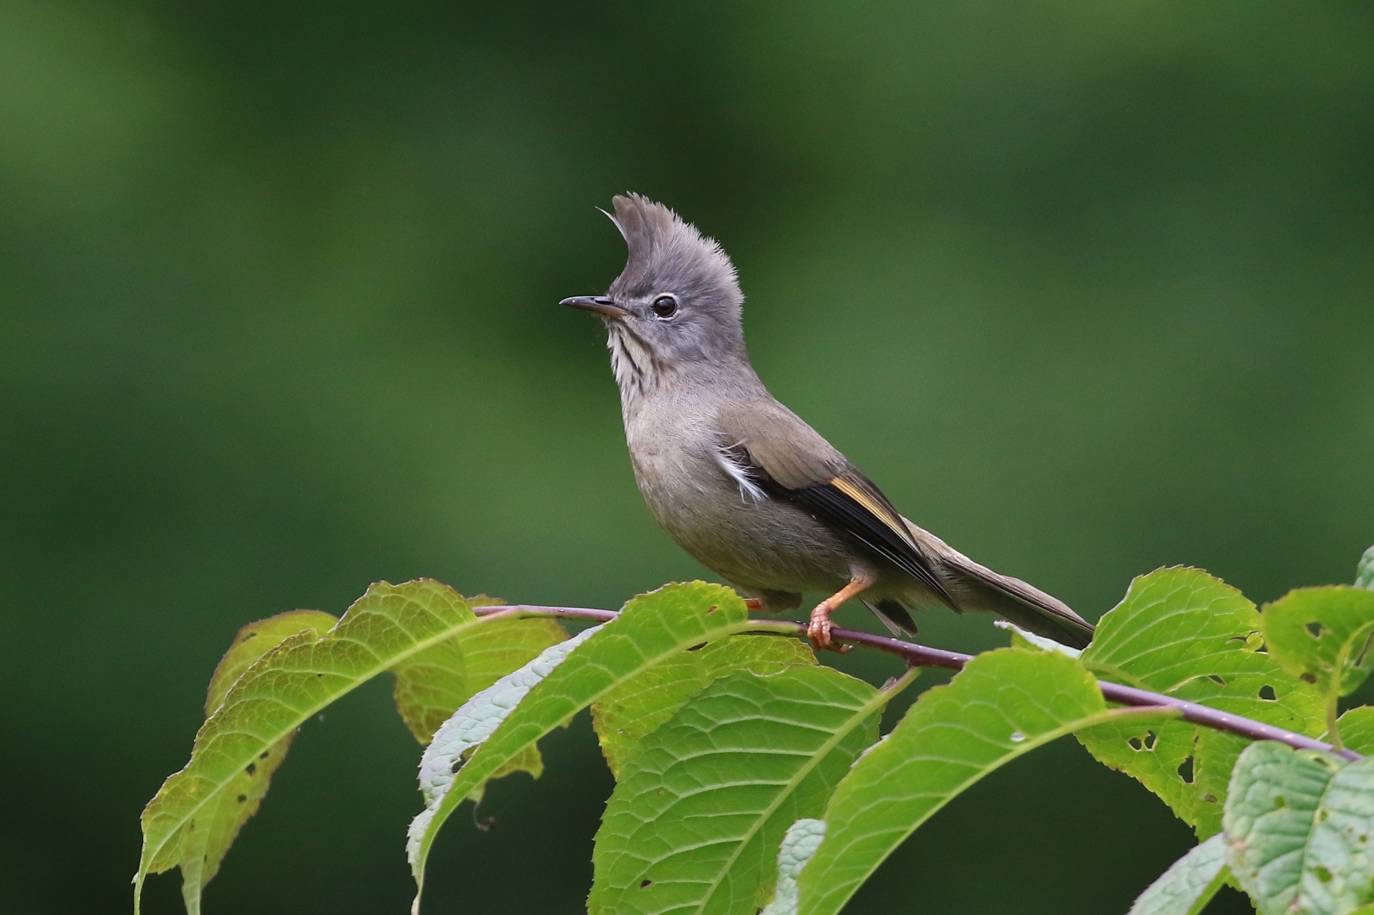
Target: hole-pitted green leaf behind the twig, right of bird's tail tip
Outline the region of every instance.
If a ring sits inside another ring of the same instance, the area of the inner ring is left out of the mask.
[[[1298,734],[1320,734],[1322,698],[1261,651],[1260,614],[1198,569],[1160,569],[1131,583],[1081,655],[1106,680],[1201,702]],[[1243,738],[1187,721],[1123,720],[1083,731],[1103,764],[1139,779],[1208,838]]]

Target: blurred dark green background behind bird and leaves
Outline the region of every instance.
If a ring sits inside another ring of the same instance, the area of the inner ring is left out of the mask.
[[[555,305],[618,273],[616,192],[725,245],[760,374],[905,514],[1090,618],[1374,541],[1367,4],[3,0],[0,85],[3,912],[126,911],[246,621],[706,574]],[[387,690],[304,730],[209,912],[405,911]],[[610,778],[585,720],[545,746],[451,823],[430,911],[580,911]],[[1189,845],[1062,743],[851,911],[1124,912]]]

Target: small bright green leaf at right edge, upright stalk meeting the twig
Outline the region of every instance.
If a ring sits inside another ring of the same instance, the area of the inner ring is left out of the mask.
[[[1327,730],[1340,747],[1333,727],[1337,699],[1353,692],[1374,668],[1374,591],[1298,588],[1264,607],[1260,620],[1274,659],[1326,699]]]

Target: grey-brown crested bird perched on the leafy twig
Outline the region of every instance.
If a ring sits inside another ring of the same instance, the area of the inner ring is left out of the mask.
[[[745,350],[745,297],[730,258],[638,194],[611,221],[629,246],[606,295],[561,304],[609,332],[635,478],[658,523],[752,606],[791,610],[830,595],[808,636],[831,647],[830,614],[860,598],[893,633],[907,607],[988,610],[1073,647],[1092,626],[1061,600],[980,566],[915,526],[758,379]]]

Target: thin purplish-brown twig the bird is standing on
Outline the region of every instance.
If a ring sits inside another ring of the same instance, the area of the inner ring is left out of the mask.
[[[489,613],[511,613],[513,615],[594,620],[596,622],[614,620],[618,615],[614,610],[598,610],[594,607],[545,607],[528,603],[473,607],[473,613],[478,615],[486,615]],[[807,625],[804,622],[793,622],[790,620],[760,620],[757,631],[805,636]],[[914,668],[948,668],[951,670],[959,670],[965,664],[973,659],[971,654],[944,651],[943,648],[932,648],[929,646],[915,644],[914,642],[903,642],[901,639],[872,635],[871,632],[859,632],[857,629],[833,629],[830,635],[837,642],[861,644],[868,648],[877,648],[878,651],[894,654]],[[1359,753],[1344,749],[1340,745],[1333,746],[1325,741],[1303,736],[1301,734],[1293,734],[1292,731],[1285,731],[1283,728],[1276,728],[1271,724],[1264,724],[1263,721],[1220,712],[1210,706],[1198,705],[1197,702],[1176,699],[1171,695],[1164,695],[1162,692],[1150,692],[1149,690],[1121,686],[1120,683],[1112,683],[1109,680],[1098,680],[1098,688],[1102,690],[1102,697],[1109,702],[1120,702],[1121,705],[1131,705],[1136,708],[1173,709],[1186,721],[1193,721],[1194,724],[1201,724],[1216,731],[1238,734],[1241,736],[1250,738],[1252,741],[1276,741],[1278,743],[1286,743],[1287,746],[1298,750],[1325,750],[1327,753],[1336,753],[1345,760],[1360,758]],[[1334,735],[1334,730],[1331,734]]]

